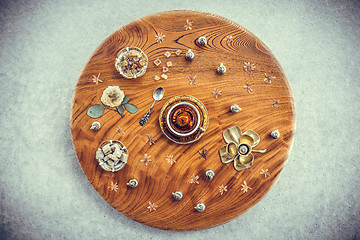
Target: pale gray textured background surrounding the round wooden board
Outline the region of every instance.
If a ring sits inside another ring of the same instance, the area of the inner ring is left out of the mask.
[[[1,1],[1,239],[360,239],[360,6],[356,1]],[[77,78],[121,26],[173,9],[211,12],[258,36],[296,102],[279,181],[237,219],[196,232],[132,221],[83,174],[69,114]]]

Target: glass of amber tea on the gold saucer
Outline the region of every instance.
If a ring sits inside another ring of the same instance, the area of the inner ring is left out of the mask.
[[[200,113],[193,104],[180,102],[170,108],[166,122],[175,135],[189,136],[199,128]]]

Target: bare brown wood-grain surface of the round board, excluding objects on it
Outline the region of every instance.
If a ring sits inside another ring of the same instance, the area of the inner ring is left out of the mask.
[[[192,29],[185,29],[186,21]],[[155,41],[155,34],[162,33],[165,40]],[[208,45],[200,46],[197,38],[206,36]],[[232,36],[232,41],[227,41]],[[117,53],[124,47],[141,48],[149,58],[144,76],[128,80],[115,69]],[[195,53],[193,61],[186,61],[188,49]],[[175,52],[181,50],[180,56]],[[164,53],[172,55],[167,58]],[[153,64],[159,58],[159,66]],[[171,61],[173,66],[166,73],[168,79],[154,80],[162,74],[162,67]],[[255,64],[255,70],[245,71],[244,62]],[[227,71],[216,72],[220,63]],[[102,83],[92,81],[98,76]],[[276,77],[271,84],[264,81],[265,74]],[[189,84],[189,77],[196,75],[196,85]],[[252,92],[244,88],[253,85]],[[89,130],[95,119],[87,116],[91,105],[101,104],[100,97],[107,86],[119,86],[139,110],[135,114],[125,111],[124,117],[108,109],[96,119],[101,122],[99,131]],[[145,126],[139,120],[153,102],[152,92],[162,86],[164,98],[157,102]],[[212,95],[214,88],[221,91],[218,99]],[[164,103],[177,95],[191,95],[207,108],[209,126],[204,136],[188,145],[176,144],[163,135],[159,126],[159,112]],[[278,105],[273,105],[278,101]],[[232,113],[229,107],[238,104],[242,110]],[[253,167],[241,172],[232,163],[222,164],[218,154],[225,144],[222,133],[238,125],[244,132],[252,129],[260,135],[256,149],[267,149],[265,154],[254,153]],[[227,222],[244,213],[257,203],[276,182],[284,167],[292,145],[295,118],[291,90],[286,77],[269,49],[256,36],[242,26],[222,17],[196,11],[170,11],[154,14],[134,21],[109,36],[95,50],[84,67],[75,88],[71,111],[71,132],[80,165],[96,191],[118,211],[146,225],[168,230],[197,230]],[[118,133],[117,127],[125,133]],[[272,139],[270,133],[279,129],[281,137]],[[146,134],[155,139],[149,145]],[[119,140],[129,150],[128,163],[119,172],[106,172],[95,159],[99,144],[105,140]],[[207,149],[205,160],[199,150]],[[146,166],[141,160],[151,156]],[[176,163],[166,161],[173,155]],[[215,177],[208,180],[205,171],[213,169]],[[261,174],[268,169],[270,176]],[[199,184],[189,183],[190,177],[199,176]],[[136,178],[137,188],[126,183]],[[243,181],[252,189],[241,191]],[[118,190],[109,188],[111,182]],[[227,186],[221,195],[219,186]],[[181,191],[183,199],[175,201],[171,195]],[[158,207],[149,211],[149,202]],[[206,210],[197,212],[194,207],[203,202]]]

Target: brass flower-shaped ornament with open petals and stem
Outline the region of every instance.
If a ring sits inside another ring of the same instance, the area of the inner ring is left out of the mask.
[[[220,147],[219,154],[224,164],[234,161],[236,171],[250,168],[254,162],[252,152],[265,153],[265,150],[254,150],[259,144],[260,136],[253,130],[242,133],[238,126],[233,126],[223,132],[226,145]]]

